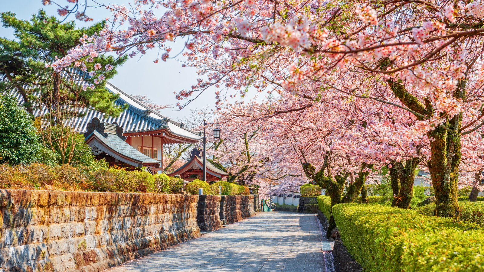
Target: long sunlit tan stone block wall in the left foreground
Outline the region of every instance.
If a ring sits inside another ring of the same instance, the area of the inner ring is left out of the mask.
[[[102,271],[198,237],[197,200],[0,190],[0,272]]]

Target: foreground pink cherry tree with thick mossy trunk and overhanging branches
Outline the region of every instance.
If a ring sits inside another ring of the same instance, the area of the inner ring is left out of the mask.
[[[134,57],[156,48],[166,60],[167,42],[186,37],[185,65],[197,67],[200,79],[179,99],[189,102],[214,86],[221,106],[234,94],[228,91],[243,95],[252,86],[308,104],[378,102],[385,118],[410,118],[411,126],[389,138],[416,141],[411,146],[428,152],[439,216],[459,211],[459,182],[473,182],[482,168],[475,147],[484,125],[481,2],[143,0],[108,8],[109,27],[83,37],[54,69],[83,65],[92,52]],[[159,9],[166,12],[157,16]]]

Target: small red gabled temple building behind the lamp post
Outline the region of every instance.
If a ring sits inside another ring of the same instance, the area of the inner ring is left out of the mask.
[[[174,177],[175,175],[180,175],[185,181],[201,180],[203,175],[203,159],[200,152],[198,149],[194,149],[190,160],[172,173],[169,173],[168,176]],[[227,172],[217,168],[208,160],[205,160],[205,166],[207,171],[206,181],[220,181],[228,176]]]

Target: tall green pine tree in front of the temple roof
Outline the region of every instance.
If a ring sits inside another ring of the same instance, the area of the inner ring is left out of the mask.
[[[0,91],[18,91],[31,115],[39,93],[41,103],[49,109],[50,117],[54,119],[58,118],[55,109],[61,104],[90,106],[113,116],[125,108],[114,105],[118,96],[106,90],[104,79],[116,75],[114,68],[124,63],[126,57],[115,59],[93,53],[86,57],[93,62],[88,66],[75,64],[77,69],[74,72],[66,68],[56,71],[48,66],[79,45],[83,35],[89,36],[103,30],[104,21],[88,28],[76,28],[74,21],[60,22],[55,16],[47,16],[44,10],[32,15],[30,21],[20,20],[11,12],[1,13],[0,20],[3,27],[15,30],[16,38],[0,38],[0,78],[3,80]],[[84,73],[87,69],[102,71],[103,75],[92,72],[88,76]],[[79,81],[84,81],[81,83],[85,85],[84,88],[74,83]],[[26,85],[30,87],[25,88]]]

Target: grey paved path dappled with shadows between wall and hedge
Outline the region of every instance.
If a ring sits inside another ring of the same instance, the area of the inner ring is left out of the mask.
[[[258,212],[106,272],[326,272],[325,267],[315,214]]]

